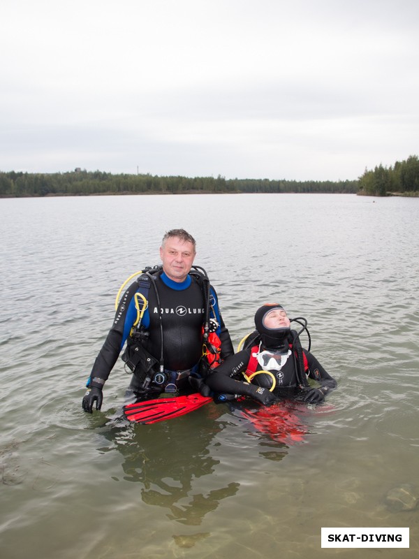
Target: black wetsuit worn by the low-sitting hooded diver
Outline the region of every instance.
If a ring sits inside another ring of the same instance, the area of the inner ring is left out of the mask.
[[[263,347],[260,349],[263,351]],[[306,349],[302,349],[302,351],[307,358],[307,376],[316,380],[318,384],[325,389],[334,389],[337,386],[335,379],[330,377],[328,372],[325,371],[322,365],[309,351]],[[253,353],[255,353],[254,350]],[[239,351],[234,356],[230,356],[226,361],[223,361],[219,367],[214,369],[205,380],[205,384],[216,393],[242,394],[254,397],[254,386],[244,382],[244,377],[242,375],[242,373],[247,371],[249,361],[251,360],[251,354],[252,348],[248,348],[242,349],[242,351]],[[264,369],[258,363],[255,370]],[[286,363],[281,367],[281,370],[272,369],[271,372],[276,380],[276,387],[274,389],[275,395],[291,397],[300,392],[293,354],[288,357]],[[263,377],[266,379],[267,375],[255,375],[251,382],[258,386],[266,386],[269,389],[269,387],[272,386],[272,384],[270,384],[272,381],[267,379],[269,382],[264,384]]]

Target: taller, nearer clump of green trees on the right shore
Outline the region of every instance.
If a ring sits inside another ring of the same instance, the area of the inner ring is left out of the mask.
[[[396,161],[389,168],[379,165],[374,170],[365,169],[359,180],[359,194],[369,196],[419,196],[419,160],[411,155],[406,161]]]

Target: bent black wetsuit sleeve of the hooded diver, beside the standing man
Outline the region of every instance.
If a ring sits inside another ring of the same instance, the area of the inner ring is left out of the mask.
[[[216,393],[253,396],[256,386],[244,382],[242,375],[238,376],[240,372],[244,372],[247,369],[250,354],[250,349],[242,349],[237,354],[230,356],[221,365],[212,370],[205,379],[205,384]],[[236,380],[233,377],[241,377],[242,379]]]

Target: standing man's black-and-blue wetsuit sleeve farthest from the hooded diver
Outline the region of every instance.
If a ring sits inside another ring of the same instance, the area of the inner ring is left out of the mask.
[[[91,370],[89,386],[102,388],[117,362],[119,353],[137,317],[134,301],[134,293],[137,290],[138,283],[133,282],[133,284],[124,291],[119,301],[117,312],[115,313],[112,328],[110,328],[102,349],[99,351]]]

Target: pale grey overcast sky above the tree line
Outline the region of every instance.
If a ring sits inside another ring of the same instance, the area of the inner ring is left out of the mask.
[[[419,154],[418,0],[1,0],[0,170],[353,180]]]

